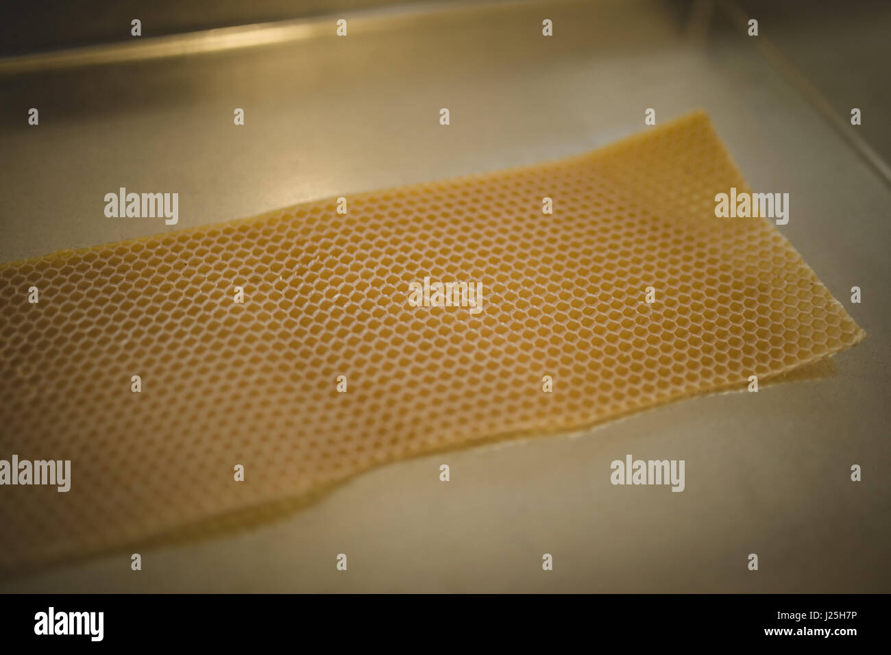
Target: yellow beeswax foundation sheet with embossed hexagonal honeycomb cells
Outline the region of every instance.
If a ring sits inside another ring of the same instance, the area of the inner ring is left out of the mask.
[[[0,458],[70,459],[72,486],[0,489],[0,567],[744,389],[862,340],[770,222],[715,218],[731,186],[748,189],[697,113],[569,160],[353,196],[347,215],[329,199],[3,266]],[[482,313],[411,307],[425,276],[482,282]]]

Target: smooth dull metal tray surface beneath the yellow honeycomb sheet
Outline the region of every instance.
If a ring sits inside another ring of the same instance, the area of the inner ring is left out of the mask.
[[[891,192],[731,20],[701,9],[390,12],[351,20],[346,38],[332,19],[330,34],[274,45],[0,77],[0,261],[175,229],[104,217],[120,186],[179,192],[176,227],[203,225],[555,159],[644,129],[648,107],[659,122],[703,108],[753,188],[789,192],[781,231],[868,335],[829,377],[389,465],[260,527],[146,549],[141,572],[131,551],[109,553],[0,589],[889,591]],[[686,490],[611,486],[628,453],[685,459]]]

